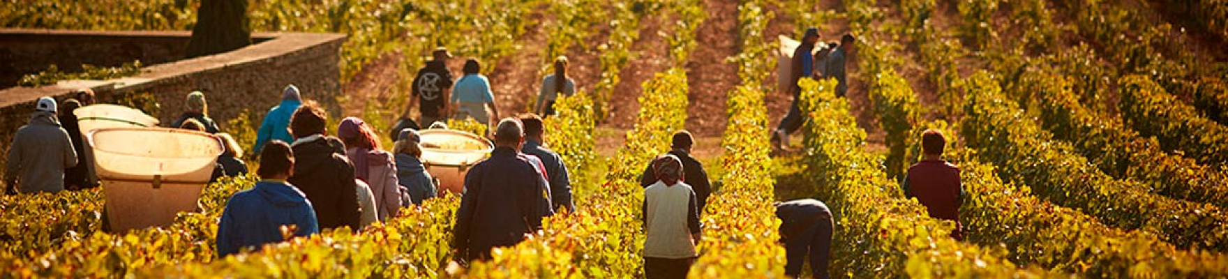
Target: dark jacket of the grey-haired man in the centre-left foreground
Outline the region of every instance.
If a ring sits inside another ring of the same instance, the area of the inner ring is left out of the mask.
[[[516,150],[495,147],[464,178],[452,246],[468,258],[512,246],[542,229],[542,175]]]

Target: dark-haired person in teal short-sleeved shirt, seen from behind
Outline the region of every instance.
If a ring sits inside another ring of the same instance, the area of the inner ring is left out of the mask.
[[[452,86],[452,103],[457,104],[457,119],[469,117],[489,128],[491,119],[499,119],[499,109],[495,107],[495,93],[490,91],[490,80],[478,74],[479,70],[481,65],[476,59],[464,61],[464,76]]]

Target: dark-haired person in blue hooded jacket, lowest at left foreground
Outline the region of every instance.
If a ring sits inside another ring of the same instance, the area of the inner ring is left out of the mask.
[[[286,183],[295,168],[290,145],[273,140],[264,146],[260,157],[260,168],[255,171],[260,182],[231,197],[222,211],[217,224],[219,257],[285,241],[282,227],[292,236],[319,232],[316,210],[307,195]]]

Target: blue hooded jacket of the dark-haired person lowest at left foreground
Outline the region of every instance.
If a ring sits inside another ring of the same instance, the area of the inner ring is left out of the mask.
[[[226,203],[217,224],[217,256],[238,253],[243,247],[260,250],[284,241],[282,225],[295,225],[295,236],[319,232],[316,211],[307,195],[285,182],[262,181],[236,193]]]

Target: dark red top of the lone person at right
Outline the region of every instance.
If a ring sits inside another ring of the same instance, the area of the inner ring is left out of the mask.
[[[964,187],[959,179],[959,167],[942,160],[922,160],[909,167],[904,177],[904,195],[916,197],[930,216],[955,221],[957,238],[962,238],[959,206],[963,205]]]

